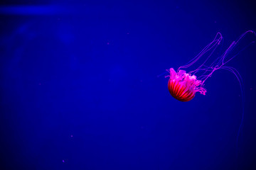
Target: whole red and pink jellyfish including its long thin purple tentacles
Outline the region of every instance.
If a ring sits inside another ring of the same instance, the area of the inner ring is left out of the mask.
[[[218,47],[218,45],[220,45],[221,40],[223,40],[223,36],[220,33],[217,33],[213,41],[206,45],[206,47],[204,47],[203,50],[201,50],[201,52],[196,55],[196,57],[189,61],[188,64],[178,67],[177,72],[174,70],[174,68],[167,69],[166,71],[169,72],[169,76],[166,77],[169,77],[168,89],[171,96],[176,98],[178,101],[191,101],[196,96],[196,92],[206,95],[207,91],[204,87],[204,84],[206,80],[211,77],[213,72],[218,69],[225,69],[235,74],[235,77],[238,78],[238,81],[242,88],[242,78],[239,72],[233,67],[225,66],[225,64],[227,64],[236,56],[233,55],[233,57],[229,59],[226,58],[227,55],[233,50],[233,48],[238,44],[238,42],[248,33],[256,35],[254,31],[247,30],[245,33],[240,35],[240,38],[238,38],[238,40],[231,43],[231,45],[228,47],[227,50],[225,50],[223,55],[217,57],[215,60],[213,60],[211,64],[206,65],[206,62],[209,60],[210,56],[213,55],[213,52]],[[188,69],[193,64],[198,62],[198,60],[200,60],[201,57],[206,54],[206,52],[209,52],[210,55],[206,57],[206,60],[204,60],[197,69],[194,69],[188,73],[184,70]]]

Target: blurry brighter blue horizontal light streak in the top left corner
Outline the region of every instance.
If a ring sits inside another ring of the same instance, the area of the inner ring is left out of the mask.
[[[6,15],[54,15],[67,11],[62,6],[0,6],[0,14]]]

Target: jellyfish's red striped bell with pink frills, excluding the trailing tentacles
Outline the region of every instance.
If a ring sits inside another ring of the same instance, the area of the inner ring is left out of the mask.
[[[170,75],[168,89],[174,98],[178,101],[191,101],[196,92],[206,95],[206,89],[203,88],[201,80],[196,79],[195,75],[186,73],[185,70],[175,72],[173,68],[167,70]]]

